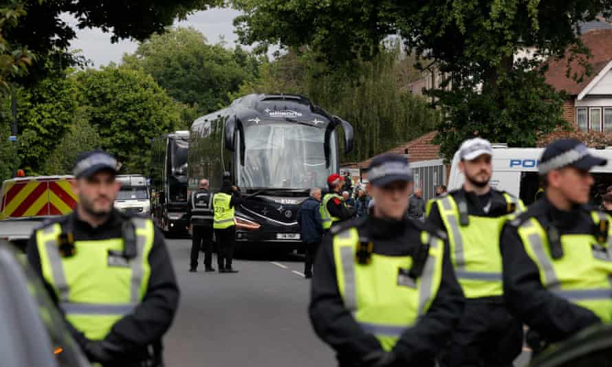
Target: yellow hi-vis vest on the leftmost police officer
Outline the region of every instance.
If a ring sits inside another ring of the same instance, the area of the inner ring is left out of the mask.
[[[123,238],[76,241],[76,254],[62,257],[61,225],[36,231],[43,277],[53,287],[67,320],[90,340],[103,340],[113,324],[138,306],[149,285],[149,253],[153,222],[131,219],[136,232],[136,257],[110,263],[109,251],[122,252]]]

